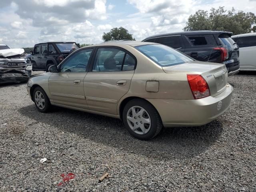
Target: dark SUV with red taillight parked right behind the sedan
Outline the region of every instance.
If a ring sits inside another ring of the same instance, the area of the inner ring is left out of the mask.
[[[240,68],[239,48],[231,35],[225,31],[187,31],[150,36],[142,41],[170,46],[198,61],[225,64],[230,76]]]

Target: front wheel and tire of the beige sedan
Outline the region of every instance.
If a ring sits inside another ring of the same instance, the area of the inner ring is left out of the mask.
[[[46,113],[50,110],[51,103],[41,87],[36,87],[33,92],[34,103],[38,111]]]

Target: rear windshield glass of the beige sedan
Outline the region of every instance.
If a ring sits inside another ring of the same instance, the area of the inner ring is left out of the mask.
[[[135,48],[162,67],[193,61],[192,58],[165,45],[150,44]]]

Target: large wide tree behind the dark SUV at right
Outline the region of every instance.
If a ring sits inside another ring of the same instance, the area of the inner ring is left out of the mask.
[[[244,13],[234,8],[228,11],[224,7],[212,8],[210,14],[204,10],[198,10],[190,15],[184,31],[194,30],[217,30],[230,31],[236,34],[250,33],[256,31],[256,16],[252,12]]]

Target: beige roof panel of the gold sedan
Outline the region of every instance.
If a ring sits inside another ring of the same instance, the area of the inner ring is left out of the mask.
[[[119,46],[119,45],[129,45],[132,47],[140,46],[140,45],[148,45],[148,44],[156,44],[151,42],[140,42],[140,41],[129,41],[129,40],[118,40],[118,41],[107,41],[101,44],[89,45],[85,47],[94,47],[94,46]],[[82,47],[84,48],[84,47]]]

